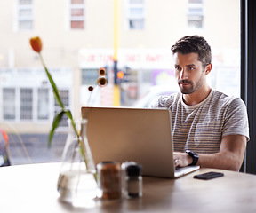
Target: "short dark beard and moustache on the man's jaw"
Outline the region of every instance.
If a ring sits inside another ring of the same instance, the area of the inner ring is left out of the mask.
[[[180,92],[182,94],[191,94],[194,91],[197,91],[198,89],[200,89],[203,86],[204,82],[205,82],[205,79],[202,73],[202,75],[200,76],[199,80],[196,81],[196,83],[188,80],[179,80],[178,85],[180,87]],[[184,86],[182,85],[182,83],[187,83],[187,85]]]

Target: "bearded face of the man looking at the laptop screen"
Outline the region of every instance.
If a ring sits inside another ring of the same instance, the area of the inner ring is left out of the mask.
[[[198,60],[197,53],[173,55],[175,65],[175,77],[178,81],[180,91],[183,94],[191,94],[202,87],[206,81],[206,75],[202,62]],[[210,69],[211,70],[211,69]]]

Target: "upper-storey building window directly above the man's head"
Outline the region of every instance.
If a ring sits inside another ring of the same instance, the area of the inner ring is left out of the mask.
[[[188,0],[188,28],[203,28],[203,0]]]

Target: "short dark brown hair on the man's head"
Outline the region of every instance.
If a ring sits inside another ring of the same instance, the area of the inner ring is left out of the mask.
[[[212,62],[211,46],[202,36],[184,36],[172,45],[172,54],[180,52],[181,54],[197,53],[198,60],[202,62],[203,67]]]

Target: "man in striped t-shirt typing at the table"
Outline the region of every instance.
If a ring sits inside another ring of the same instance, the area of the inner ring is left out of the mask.
[[[175,166],[239,170],[249,140],[244,102],[206,83],[212,53],[204,37],[184,36],[171,50],[180,92],[159,97],[151,107],[171,109]]]

